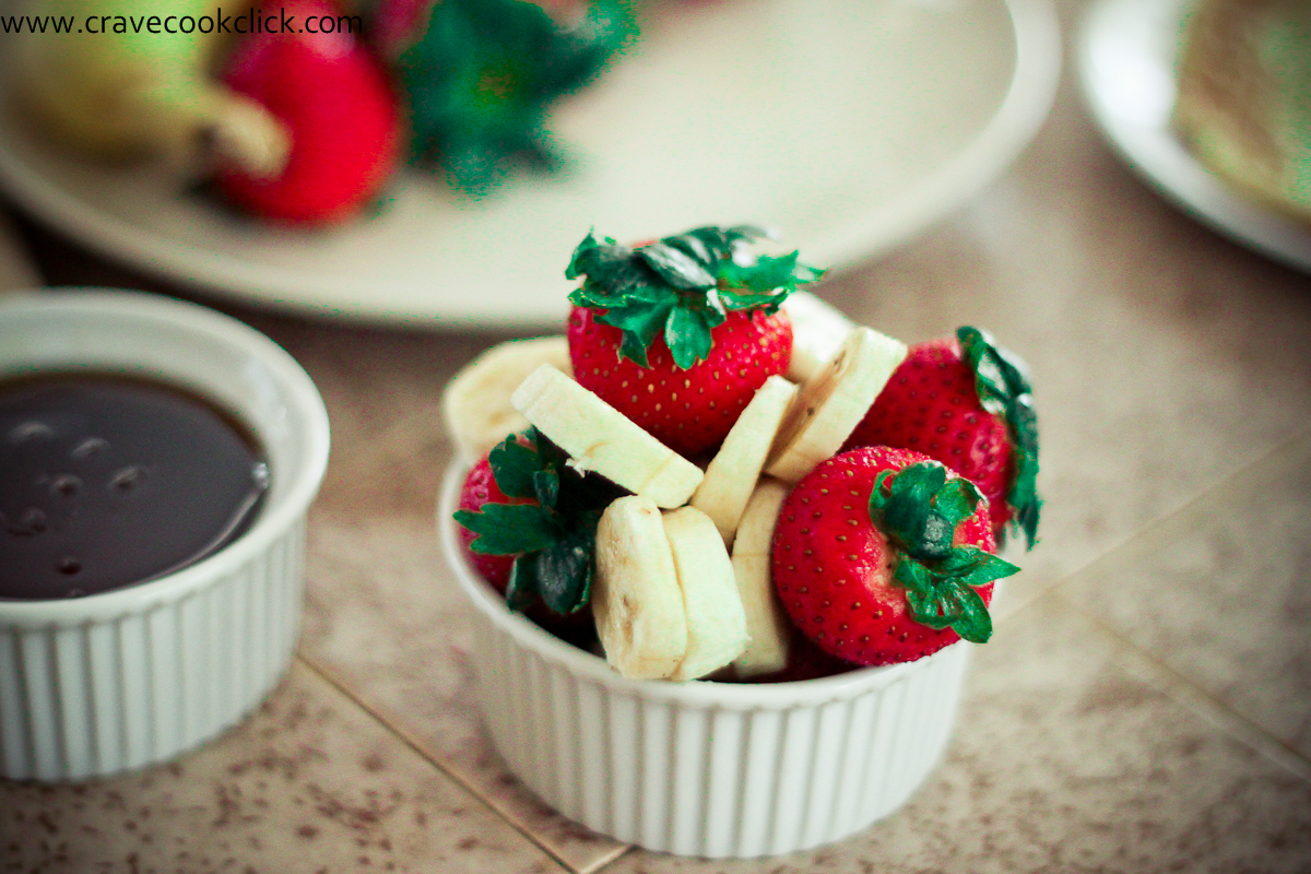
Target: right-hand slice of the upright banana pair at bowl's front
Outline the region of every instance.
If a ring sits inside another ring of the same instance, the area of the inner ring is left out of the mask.
[[[742,654],[746,613],[733,580],[733,562],[709,516],[696,507],[666,512],[665,536],[687,616],[687,653],[670,679],[695,680]]]

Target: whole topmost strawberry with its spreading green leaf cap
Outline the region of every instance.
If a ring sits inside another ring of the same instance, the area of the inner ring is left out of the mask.
[[[756,228],[697,228],[629,249],[593,235],[565,275],[574,379],[684,456],[722,443],[792,356],[779,305],[819,270],[743,253]]]

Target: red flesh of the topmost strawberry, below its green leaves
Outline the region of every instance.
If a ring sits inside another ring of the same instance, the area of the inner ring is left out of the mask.
[[[604,311],[599,311],[604,312]],[[646,350],[648,367],[621,358],[624,333],[602,325],[594,311],[569,313],[574,377],[661,443],[695,456],[724,442],[729,428],[792,356],[792,320],[785,312],[732,312],[714,329],[705,360],[679,370],[663,339]]]

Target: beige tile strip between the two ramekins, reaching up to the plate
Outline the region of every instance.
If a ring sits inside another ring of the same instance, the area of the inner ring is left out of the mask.
[[[319,330],[270,321],[320,385],[333,457],[309,525],[302,649],[552,856],[590,871],[623,845],[544,807],[482,732],[461,596],[438,554],[450,457],[440,392],[499,337]]]

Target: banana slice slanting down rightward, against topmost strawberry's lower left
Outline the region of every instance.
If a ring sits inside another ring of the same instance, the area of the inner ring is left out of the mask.
[[[549,364],[523,380],[510,404],[570,456],[570,465],[657,506],[680,507],[701,485],[700,468]]]

